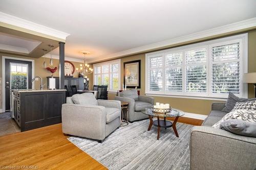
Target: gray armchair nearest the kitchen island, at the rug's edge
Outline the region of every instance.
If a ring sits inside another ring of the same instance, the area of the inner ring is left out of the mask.
[[[121,102],[96,100],[93,93],[75,94],[62,105],[62,132],[103,142],[119,128]]]

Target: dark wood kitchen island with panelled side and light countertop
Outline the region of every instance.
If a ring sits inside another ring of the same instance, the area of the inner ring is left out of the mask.
[[[66,90],[17,89],[13,96],[13,118],[22,132],[61,123]]]

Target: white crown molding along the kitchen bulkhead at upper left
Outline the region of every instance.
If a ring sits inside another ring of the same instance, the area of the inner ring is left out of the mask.
[[[16,16],[9,15],[3,12],[0,12],[0,22],[6,23],[7,25],[12,25],[22,29],[37,32],[40,34],[56,37],[62,40],[66,40],[66,38],[70,35],[68,33],[61,32],[49,27],[45,27],[45,26],[39,25],[38,23],[31,22],[22,18],[18,18]]]

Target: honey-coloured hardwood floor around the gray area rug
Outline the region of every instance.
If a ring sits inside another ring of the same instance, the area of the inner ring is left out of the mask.
[[[180,117],[178,122],[201,125],[203,120]],[[38,169],[107,169],[78,149],[61,124],[0,136],[0,166],[34,165]]]

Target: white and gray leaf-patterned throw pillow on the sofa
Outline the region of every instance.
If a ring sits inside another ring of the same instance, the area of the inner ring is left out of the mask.
[[[252,123],[256,123],[256,110],[234,110],[227,113],[222,119],[214,124],[212,128],[221,129],[220,125],[225,120],[240,119]]]

